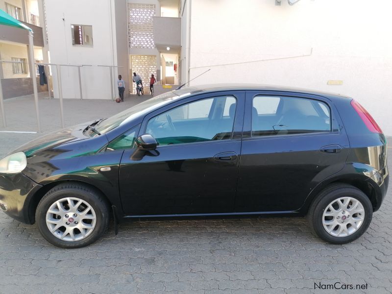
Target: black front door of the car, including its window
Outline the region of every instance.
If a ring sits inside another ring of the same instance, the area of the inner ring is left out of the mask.
[[[198,95],[147,115],[139,135],[156,150],[124,151],[120,193],[127,215],[229,213],[234,209],[245,92]]]

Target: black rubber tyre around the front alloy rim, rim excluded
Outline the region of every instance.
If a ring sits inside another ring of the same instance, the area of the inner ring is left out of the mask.
[[[75,197],[84,200],[94,209],[96,215],[95,227],[92,229],[92,232],[82,240],[61,240],[49,231],[46,222],[49,207],[56,201],[66,197]],[[107,230],[109,226],[110,210],[105,199],[94,189],[83,184],[68,183],[55,186],[45,194],[38,203],[35,219],[42,236],[49,243],[62,248],[80,248],[94,243]]]

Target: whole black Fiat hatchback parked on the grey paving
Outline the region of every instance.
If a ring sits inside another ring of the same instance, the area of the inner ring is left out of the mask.
[[[0,161],[0,207],[50,243],[109,219],[307,215],[360,237],[388,188],[387,141],[352,98],[252,85],[188,87],[30,142]]]

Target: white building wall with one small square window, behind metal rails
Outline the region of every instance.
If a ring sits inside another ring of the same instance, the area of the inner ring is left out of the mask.
[[[110,22],[112,0],[46,0],[50,61],[73,65],[115,65],[116,45]],[[93,47],[72,45],[71,25],[93,26]],[[126,36],[125,36],[126,37]],[[55,68],[54,81],[56,81]],[[113,94],[116,76],[113,75]],[[111,99],[110,72],[103,67],[82,67],[83,99]],[[77,68],[61,67],[63,98],[80,98]],[[57,85],[54,95],[58,98]]]

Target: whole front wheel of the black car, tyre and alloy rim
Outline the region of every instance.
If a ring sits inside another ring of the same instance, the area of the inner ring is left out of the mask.
[[[49,243],[78,248],[92,244],[106,231],[109,209],[93,189],[81,184],[60,184],[41,199],[36,220]]]

